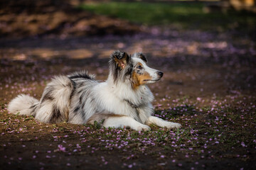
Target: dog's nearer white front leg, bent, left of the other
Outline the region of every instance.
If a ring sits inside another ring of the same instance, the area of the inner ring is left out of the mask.
[[[143,125],[142,123],[137,122],[134,118],[128,116],[110,116],[105,119],[103,126],[106,128],[124,128],[129,127],[137,131],[147,131],[150,130],[148,125]]]

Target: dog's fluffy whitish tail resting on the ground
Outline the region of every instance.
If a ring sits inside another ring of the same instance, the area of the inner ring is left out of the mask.
[[[13,114],[32,115],[38,100],[31,96],[21,94],[14,98],[8,105],[8,110]]]

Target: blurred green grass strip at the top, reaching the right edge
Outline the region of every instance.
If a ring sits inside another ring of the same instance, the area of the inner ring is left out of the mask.
[[[235,11],[204,13],[203,6],[204,4],[201,2],[108,2],[82,4],[78,8],[147,26],[172,25],[207,30],[237,28],[250,30],[256,25],[255,14]]]

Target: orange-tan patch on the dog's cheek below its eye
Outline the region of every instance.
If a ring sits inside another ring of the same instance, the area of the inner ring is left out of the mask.
[[[132,72],[132,87],[133,89],[137,89],[139,86],[146,84],[145,80],[151,80],[152,77],[148,72],[144,72],[143,74],[138,74],[136,70]]]

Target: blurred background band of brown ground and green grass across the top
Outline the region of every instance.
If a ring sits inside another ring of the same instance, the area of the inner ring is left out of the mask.
[[[146,26],[232,31],[255,40],[255,0],[2,0],[0,37],[124,35]]]

